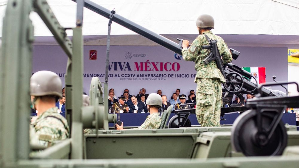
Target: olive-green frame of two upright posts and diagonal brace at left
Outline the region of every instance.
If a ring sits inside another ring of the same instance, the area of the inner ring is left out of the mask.
[[[83,11],[83,5],[79,8],[78,10]],[[31,11],[36,11],[39,14],[68,56],[65,76],[68,99],[66,109],[71,128],[71,139],[55,145],[56,149],[46,149],[45,153],[41,153],[37,157],[53,156],[57,158],[61,153],[67,153],[68,157],[71,156],[74,159],[83,158],[82,148],[77,148],[83,146],[81,122],[82,22],[79,26],[72,28],[74,38],[71,42],[66,36],[65,28],[59,24],[47,1],[11,0],[7,2],[7,10],[3,19],[0,93],[5,97],[1,96],[0,98],[0,167],[13,166],[20,159],[28,159],[30,152],[28,121],[30,118],[30,77],[34,40],[33,25],[29,19]]]

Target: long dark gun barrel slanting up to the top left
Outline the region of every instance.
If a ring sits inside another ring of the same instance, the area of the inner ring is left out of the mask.
[[[76,2],[75,0],[72,0],[72,1]],[[95,13],[98,13],[98,14],[106,17],[107,19],[109,19],[109,16],[111,13],[110,10],[108,10],[92,1],[89,1],[89,0],[84,1],[84,6],[87,9],[92,10]],[[129,19],[126,19],[126,18],[118,15],[117,13],[114,14],[113,21],[115,23],[122,25],[123,27],[128,28],[129,30],[132,30],[135,33],[140,34],[141,36],[144,36],[145,38],[148,38],[151,41],[154,41],[154,42],[160,44],[161,46],[163,46],[175,53],[178,53],[179,55],[182,55],[181,45],[177,44],[174,41],[171,41],[168,38],[165,38],[157,33],[154,33],[152,31],[146,29],[145,27],[142,27],[139,24],[136,24],[136,23],[130,21]]]

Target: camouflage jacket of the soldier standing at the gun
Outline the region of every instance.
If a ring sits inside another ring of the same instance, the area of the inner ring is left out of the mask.
[[[222,56],[223,64],[227,64],[232,61],[233,58],[231,52],[221,37],[213,34],[211,31],[205,31],[203,34],[207,34],[210,39],[217,40],[217,47],[220,55]],[[204,35],[197,36],[188,49],[184,48],[182,50],[184,60],[195,62],[195,70],[197,71],[196,78],[219,78],[221,82],[225,82],[225,79],[220,70],[217,68],[215,61],[211,61],[207,65],[202,61],[210,53],[210,49],[202,49],[202,46],[204,45],[209,45],[207,38]]]

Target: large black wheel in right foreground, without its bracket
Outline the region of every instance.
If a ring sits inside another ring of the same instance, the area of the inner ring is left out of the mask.
[[[277,115],[275,112],[264,111],[261,113],[262,132],[258,133],[257,110],[247,110],[234,122],[231,131],[231,144],[237,152],[246,156],[281,155],[287,144],[286,128],[282,121],[276,128],[270,128]],[[267,131],[274,129],[268,139]]]

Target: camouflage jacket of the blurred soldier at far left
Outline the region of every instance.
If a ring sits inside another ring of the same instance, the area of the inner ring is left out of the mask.
[[[57,110],[57,107],[50,108],[31,123],[30,142],[32,144],[50,147],[55,141],[68,138],[68,122],[57,113]]]

